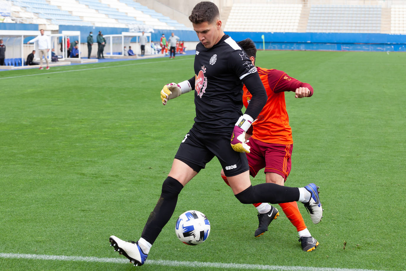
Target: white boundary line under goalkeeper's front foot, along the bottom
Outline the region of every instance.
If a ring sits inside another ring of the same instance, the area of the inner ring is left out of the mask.
[[[112,262],[127,263],[129,260],[123,258],[98,258],[82,256],[57,256],[57,255],[38,255],[38,254],[19,254],[19,253],[0,253],[0,258],[8,259],[31,259],[31,260],[60,260],[60,261],[80,261],[80,262]],[[145,264],[160,265],[168,267],[209,267],[221,269],[257,269],[257,270],[280,270],[280,271],[379,271],[370,269],[348,269],[348,268],[330,268],[330,267],[304,267],[304,266],[281,266],[281,265],[261,265],[261,264],[236,264],[222,262],[186,262],[170,260],[147,260]]]

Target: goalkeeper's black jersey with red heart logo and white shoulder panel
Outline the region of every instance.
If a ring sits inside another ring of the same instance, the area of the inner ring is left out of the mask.
[[[194,78],[189,80],[195,90],[196,117],[193,126],[203,132],[231,134],[235,122],[242,115],[243,81],[257,76],[263,88],[257,68],[240,46],[224,35],[212,48],[197,44],[194,72]],[[266,95],[265,89],[263,92]]]

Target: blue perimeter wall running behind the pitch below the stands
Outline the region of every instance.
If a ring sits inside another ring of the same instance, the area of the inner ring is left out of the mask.
[[[39,30],[38,24],[1,23],[0,30]],[[59,26],[63,30],[80,31],[82,41],[86,41],[90,31],[93,39],[99,31],[104,35],[129,32],[129,28],[93,27],[93,26]],[[151,40],[160,41],[162,34],[169,37],[174,32],[183,41],[198,41],[192,30],[155,30]],[[258,50],[323,50],[323,51],[376,51],[406,52],[406,35],[378,33],[269,33],[269,32],[226,32],[235,41],[251,38]],[[264,41],[262,39],[264,37]],[[24,39],[30,40],[32,37]],[[265,46],[264,46],[265,43]]]

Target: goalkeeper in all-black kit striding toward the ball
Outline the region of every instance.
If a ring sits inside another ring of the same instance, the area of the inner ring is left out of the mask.
[[[265,88],[257,68],[246,53],[222,31],[220,15],[214,3],[198,3],[189,20],[200,41],[194,59],[195,75],[179,84],[165,85],[161,99],[165,105],[168,100],[194,89],[194,124],[179,146],[141,238],[131,243],[114,235],[109,239],[110,245],[134,265],[144,264],[152,244],[175,210],[180,191],[214,156],[220,161],[231,189],[240,202],[274,204],[300,201],[311,210],[314,223],[320,222],[322,217],[315,184],[301,188],[273,183],[251,185],[244,153],[249,152],[245,132],[266,103]],[[252,94],[244,115],[241,111],[243,84]]]

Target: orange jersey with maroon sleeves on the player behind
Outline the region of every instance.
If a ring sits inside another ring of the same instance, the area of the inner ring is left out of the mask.
[[[252,137],[266,143],[293,144],[292,128],[289,126],[289,116],[286,111],[285,91],[295,92],[298,87],[307,87],[311,96],[313,95],[313,88],[311,85],[300,82],[277,69],[263,69],[261,67],[257,67],[257,69],[266,89],[268,100],[259,113],[257,121],[253,123]],[[245,85],[243,91],[242,99],[244,106],[247,107],[252,95]]]

